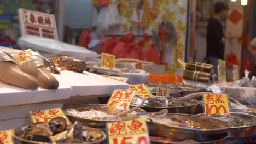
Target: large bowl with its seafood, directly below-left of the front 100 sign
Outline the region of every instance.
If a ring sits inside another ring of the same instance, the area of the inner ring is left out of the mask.
[[[200,133],[205,141],[210,141],[226,136],[230,128],[227,122],[198,115],[142,113],[140,117],[147,119],[150,136],[178,137],[179,140],[198,141]]]

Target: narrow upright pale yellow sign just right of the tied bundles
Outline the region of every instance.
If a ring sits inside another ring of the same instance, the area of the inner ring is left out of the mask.
[[[226,61],[222,61],[219,59],[218,65],[218,78],[219,84],[223,85],[226,83]]]

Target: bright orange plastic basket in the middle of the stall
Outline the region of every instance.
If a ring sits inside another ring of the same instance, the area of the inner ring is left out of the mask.
[[[172,75],[172,74],[150,74],[149,77],[149,83],[175,83],[177,77],[177,82],[176,83],[182,83],[183,77],[182,75]]]

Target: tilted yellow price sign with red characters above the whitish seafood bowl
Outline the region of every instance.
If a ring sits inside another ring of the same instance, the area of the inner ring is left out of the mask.
[[[114,90],[107,105],[117,107],[118,109],[127,109],[129,108],[135,94],[135,91]]]

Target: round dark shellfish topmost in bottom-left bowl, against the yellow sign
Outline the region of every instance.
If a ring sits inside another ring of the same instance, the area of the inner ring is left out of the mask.
[[[48,124],[51,128],[51,131],[53,131],[53,135],[56,135],[66,130],[66,122],[67,120],[63,117],[56,117],[51,119]]]

